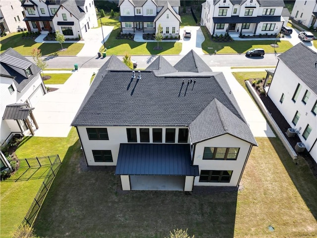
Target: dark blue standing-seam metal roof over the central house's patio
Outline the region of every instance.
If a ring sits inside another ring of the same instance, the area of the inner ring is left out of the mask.
[[[199,176],[189,144],[120,144],[115,175]]]

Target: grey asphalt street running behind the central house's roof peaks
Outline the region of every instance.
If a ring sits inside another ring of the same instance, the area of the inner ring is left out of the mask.
[[[164,56],[164,58],[170,62],[171,65],[175,65],[183,56],[173,55]],[[268,66],[277,64],[276,54],[266,54],[264,57],[252,57],[248,58],[243,55],[202,55],[200,56],[210,67],[214,66]],[[26,57],[28,60],[32,60],[32,57]],[[48,68],[72,68],[77,63],[81,68],[100,68],[106,60],[106,58],[96,57],[77,57],[77,56],[57,56],[57,57],[43,57],[47,63]],[[122,58],[118,56],[118,58]],[[146,68],[153,60],[157,58],[155,56],[132,56],[133,60],[138,61],[138,68]]]

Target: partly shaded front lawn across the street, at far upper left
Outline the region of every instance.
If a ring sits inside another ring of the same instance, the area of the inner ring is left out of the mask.
[[[43,56],[76,56],[84,47],[81,43],[63,43],[63,48],[67,50],[59,51],[59,43],[36,43],[34,39],[22,39],[22,32],[8,34],[1,37],[0,41],[1,53],[11,47],[22,56],[31,56],[34,48],[40,49]]]

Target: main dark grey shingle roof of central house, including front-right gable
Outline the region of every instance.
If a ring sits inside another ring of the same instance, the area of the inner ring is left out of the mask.
[[[138,79],[137,73],[131,77],[131,70],[107,70],[103,66],[72,125],[189,126],[193,143],[229,133],[256,144],[223,74],[191,72],[195,79],[187,74],[157,76],[145,70]],[[215,100],[218,106],[210,106]],[[224,116],[214,116],[220,113]],[[224,130],[225,123],[234,124]],[[214,125],[222,126],[220,132]]]

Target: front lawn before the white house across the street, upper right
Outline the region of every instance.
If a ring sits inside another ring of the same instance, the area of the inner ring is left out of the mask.
[[[217,54],[243,54],[248,50],[253,48],[262,48],[265,53],[274,53],[274,49],[276,49],[277,53],[282,53],[292,48],[292,44],[288,41],[280,41],[277,40],[276,44],[279,46],[278,48],[273,48],[270,44],[275,43],[275,38],[272,40],[254,40],[254,41],[232,41],[232,42],[213,42],[210,40],[209,33],[206,27],[201,27],[205,41],[202,44],[203,51],[206,54],[214,54],[214,51],[217,51]]]

